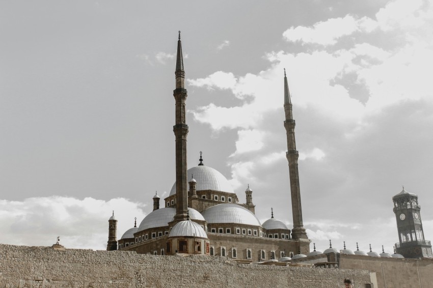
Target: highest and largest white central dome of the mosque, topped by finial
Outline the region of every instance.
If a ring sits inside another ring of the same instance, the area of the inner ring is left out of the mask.
[[[196,180],[196,191],[215,190],[234,193],[229,181],[217,170],[209,166],[195,166],[187,171],[187,179],[194,176]],[[176,182],[170,190],[170,195],[176,194]]]

